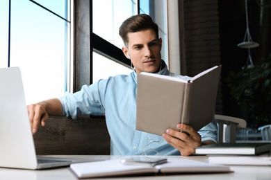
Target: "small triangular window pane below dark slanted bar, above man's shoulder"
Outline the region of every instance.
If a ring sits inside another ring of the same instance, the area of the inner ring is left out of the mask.
[[[93,82],[117,74],[128,75],[131,71],[130,68],[93,52]]]

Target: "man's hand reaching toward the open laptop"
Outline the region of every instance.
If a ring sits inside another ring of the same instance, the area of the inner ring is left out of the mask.
[[[28,105],[28,116],[31,124],[32,134],[35,134],[38,130],[39,124],[45,125],[45,121],[48,118],[47,111],[41,105]]]

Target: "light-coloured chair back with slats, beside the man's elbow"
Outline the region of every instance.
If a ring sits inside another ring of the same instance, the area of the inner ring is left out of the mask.
[[[236,143],[236,130],[243,129],[247,126],[247,122],[244,119],[231,116],[215,114],[215,121],[218,126],[218,143]]]

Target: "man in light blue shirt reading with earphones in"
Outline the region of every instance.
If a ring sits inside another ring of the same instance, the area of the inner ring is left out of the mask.
[[[161,60],[162,39],[158,39],[158,26],[148,15],[136,15],[120,26],[125,47],[124,55],[134,66],[130,75],[116,75],[83,86],[74,94],[69,92],[58,99],[46,100],[28,106],[33,134],[38,124],[45,125],[48,115],[72,116],[77,114],[105,115],[114,155],[183,155],[195,152],[193,147],[215,143],[216,126],[210,123],[196,132],[189,125],[176,125],[182,132],[165,129],[162,136],[136,130],[137,73],[170,73]],[[163,94],[161,94],[163,96]],[[187,133],[183,133],[187,132]],[[188,135],[189,134],[189,135]]]

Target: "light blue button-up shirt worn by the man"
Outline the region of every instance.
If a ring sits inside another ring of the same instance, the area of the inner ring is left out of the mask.
[[[160,74],[188,78],[170,73],[165,65]],[[111,139],[112,155],[180,155],[179,150],[169,145],[162,136],[136,130],[137,74],[115,75],[107,80],[84,85],[74,94],[66,92],[59,98],[63,115],[76,118],[77,114],[106,116],[106,125]],[[217,141],[217,127],[210,123],[199,130],[202,141]],[[151,143],[154,141],[154,143]]]

